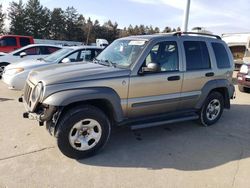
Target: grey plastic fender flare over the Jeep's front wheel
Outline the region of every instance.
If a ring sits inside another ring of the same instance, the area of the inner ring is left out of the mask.
[[[66,107],[76,102],[99,99],[106,100],[111,104],[116,121],[120,122],[124,119],[119,95],[113,89],[107,87],[63,90],[49,95],[42,103]]]

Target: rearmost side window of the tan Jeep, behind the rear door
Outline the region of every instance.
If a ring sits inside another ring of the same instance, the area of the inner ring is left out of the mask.
[[[212,47],[216,58],[217,67],[230,68],[230,61],[224,45],[221,43],[213,42]]]

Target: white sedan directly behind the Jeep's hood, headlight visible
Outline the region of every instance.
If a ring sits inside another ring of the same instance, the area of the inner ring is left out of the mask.
[[[8,65],[2,79],[10,89],[21,90],[31,70],[59,63],[92,61],[102,49],[95,46],[63,47],[45,58],[24,60]]]

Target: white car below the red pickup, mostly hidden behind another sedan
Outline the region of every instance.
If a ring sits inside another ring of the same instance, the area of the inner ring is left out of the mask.
[[[61,49],[61,46],[50,44],[30,44],[13,52],[0,56],[0,76],[5,66],[27,59],[38,59]]]

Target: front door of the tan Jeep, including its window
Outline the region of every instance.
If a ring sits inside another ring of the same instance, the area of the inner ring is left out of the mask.
[[[158,72],[138,72],[130,78],[128,116],[140,117],[172,112],[180,104],[183,73],[180,70],[176,41],[164,41],[153,46],[142,67],[151,62],[160,66]],[[141,67],[141,70],[142,70]]]

